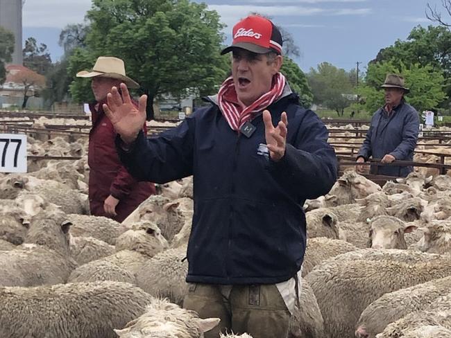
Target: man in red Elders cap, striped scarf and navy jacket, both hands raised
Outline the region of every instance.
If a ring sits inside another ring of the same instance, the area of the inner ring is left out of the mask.
[[[208,107],[146,140],[139,109],[114,88],[105,113],[117,148],[137,179],[158,183],[194,175],[184,307],[218,317],[219,330],[287,337],[298,303],[306,244],[303,204],[329,192],[337,159],[327,129],[293,94],[282,66],[282,37],[259,16],[233,28],[232,76]],[[302,309],[301,309],[302,310]]]

